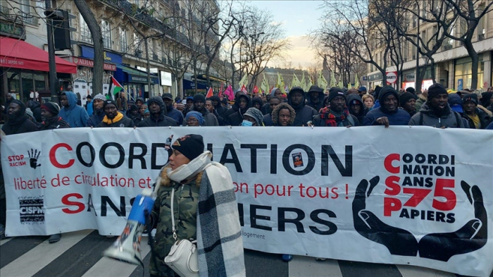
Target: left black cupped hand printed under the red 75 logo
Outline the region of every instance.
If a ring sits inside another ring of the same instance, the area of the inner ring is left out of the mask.
[[[356,195],[353,200],[354,228],[368,240],[385,245],[390,254],[416,256],[418,254],[418,241],[411,233],[383,223],[375,214],[366,210],[366,198],[370,196],[379,180],[379,176],[372,178],[368,188],[368,181],[363,179],[356,187]]]

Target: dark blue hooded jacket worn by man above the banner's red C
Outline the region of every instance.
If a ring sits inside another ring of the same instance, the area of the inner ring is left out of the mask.
[[[394,94],[394,97],[397,99],[397,103],[399,103],[399,94],[397,94],[394,89],[389,90],[388,87],[382,88],[381,91],[379,90],[379,100],[383,101],[387,94]],[[377,123],[377,118],[381,118],[382,116],[386,116],[388,118],[389,125],[405,126],[408,125],[408,122],[411,119],[409,113],[403,109],[399,109],[399,107],[397,107],[396,111],[387,111],[384,106],[380,106],[366,113],[365,118],[363,118],[363,125],[380,125],[380,123]]]

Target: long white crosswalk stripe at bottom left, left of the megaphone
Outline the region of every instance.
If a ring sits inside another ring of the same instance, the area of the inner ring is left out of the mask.
[[[44,240],[37,247],[4,266],[1,269],[1,274],[12,277],[32,276],[91,232],[92,230],[82,230],[64,233],[62,239],[57,243],[49,243],[48,240]]]

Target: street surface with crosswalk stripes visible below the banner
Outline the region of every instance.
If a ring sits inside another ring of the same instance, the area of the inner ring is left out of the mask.
[[[0,276],[49,277],[142,277],[142,267],[101,257],[115,238],[98,235],[95,230],[65,233],[60,242],[48,243],[48,237],[32,236],[1,240]],[[149,264],[149,246],[142,242],[144,264]],[[389,277],[454,277],[456,274],[416,266],[366,264],[351,261],[315,261],[295,256],[289,263],[279,254],[246,250],[246,276],[389,276]],[[144,276],[149,276],[146,271]],[[493,273],[490,274],[493,277]]]

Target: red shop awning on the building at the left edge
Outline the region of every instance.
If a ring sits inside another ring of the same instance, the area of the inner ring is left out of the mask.
[[[55,57],[56,72],[77,73],[74,63]],[[0,66],[49,72],[48,52],[20,39],[0,37]]]

